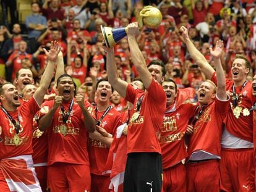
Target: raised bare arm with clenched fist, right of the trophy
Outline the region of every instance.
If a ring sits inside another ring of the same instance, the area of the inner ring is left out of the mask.
[[[186,43],[187,50],[189,51],[190,56],[200,66],[206,78],[211,79],[215,70],[211,67],[210,64],[208,64],[205,56],[203,56],[203,54],[198,51],[197,48],[195,48],[194,44],[189,39],[187,28],[182,26],[179,30],[182,32],[182,38],[184,40],[184,43]]]

